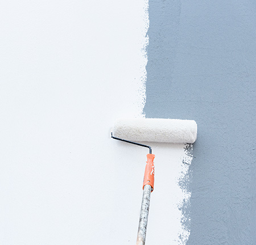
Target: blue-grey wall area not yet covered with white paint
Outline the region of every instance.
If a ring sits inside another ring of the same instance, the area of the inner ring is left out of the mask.
[[[146,117],[194,119],[189,245],[256,244],[256,2],[149,0]]]

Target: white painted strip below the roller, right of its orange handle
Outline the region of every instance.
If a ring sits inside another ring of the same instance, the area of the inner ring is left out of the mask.
[[[181,225],[183,214],[179,207],[183,201],[189,201],[190,193],[178,184],[189,166],[182,163],[184,144],[151,145],[155,154],[155,186],[151,195],[146,242],[150,245],[185,244],[190,230]]]

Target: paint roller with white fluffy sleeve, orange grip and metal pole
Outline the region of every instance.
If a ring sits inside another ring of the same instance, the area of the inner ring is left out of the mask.
[[[152,154],[150,146],[138,142],[193,143],[197,137],[197,124],[194,120],[180,119],[118,119],[115,121],[111,135],[115,140],[149,149],[143,179],[143,197],[137,235],[137,245],[144,245],[150,196],[154,189],[155,155]]]

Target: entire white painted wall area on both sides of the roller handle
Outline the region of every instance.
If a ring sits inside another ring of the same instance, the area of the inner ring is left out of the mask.
[[[0,3],[1,244],[135,243],[147,150],[111,140],[110,128],[142,117],[146,7]],[[168,244],[185,232],[184,151],[152,146],[147,244]]]

